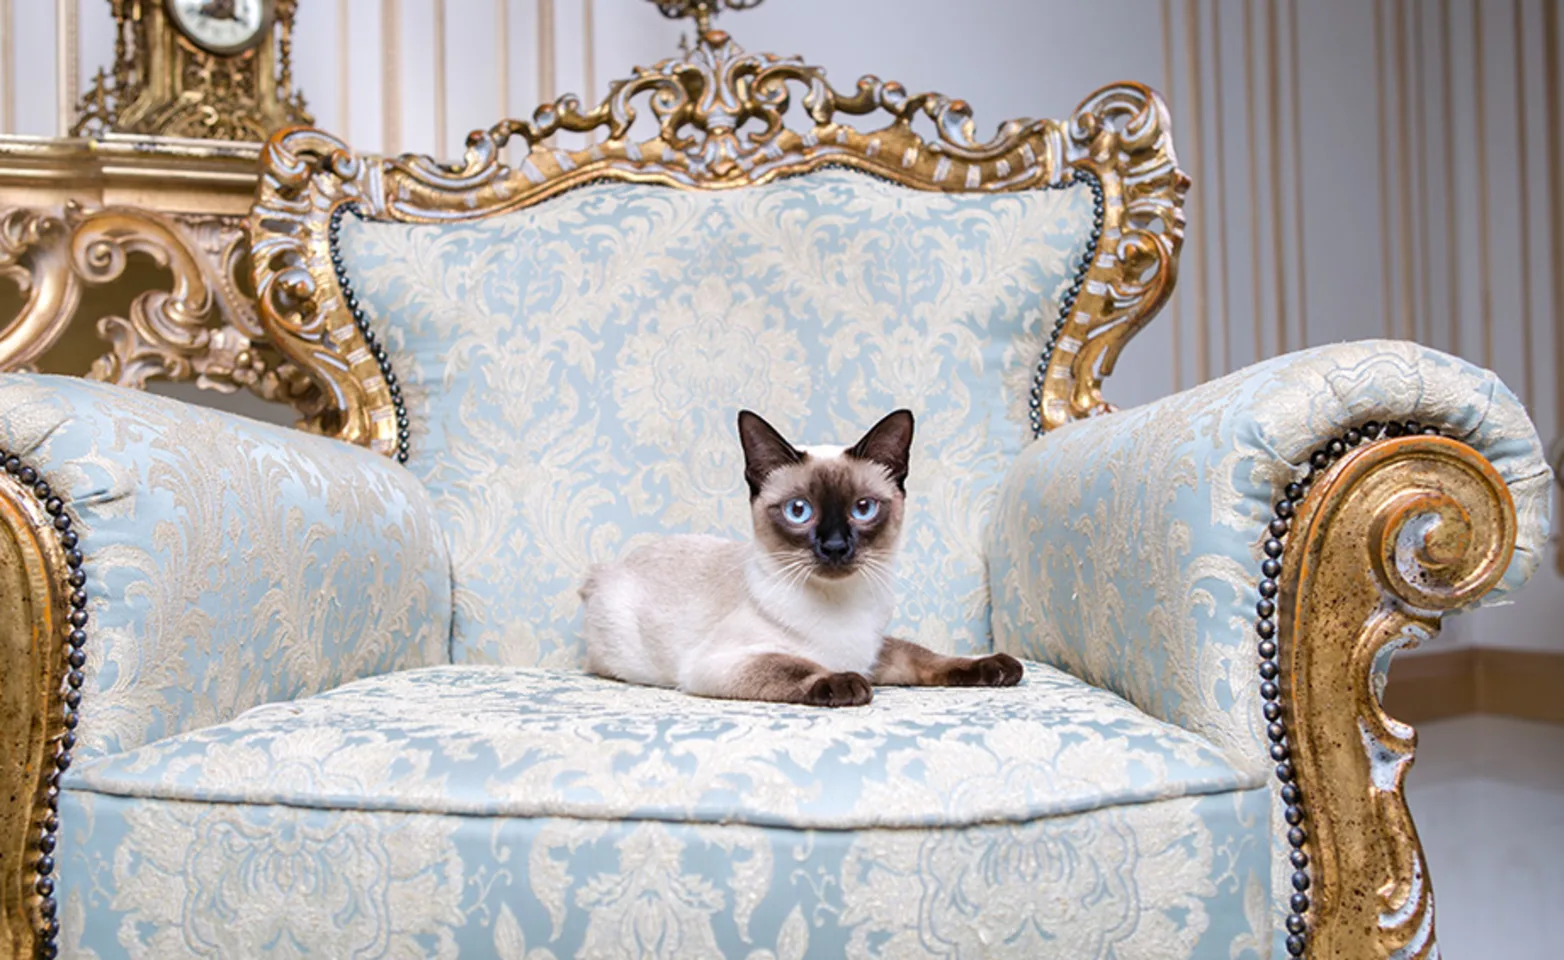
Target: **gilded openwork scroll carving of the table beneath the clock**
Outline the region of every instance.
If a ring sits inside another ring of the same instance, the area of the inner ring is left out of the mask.
[[[0,214],[0,275],[25,296],[0,328],[0,369],[31,369],[70,328],[84,288],[119,281],[133,255],[166,270],[169,285],[138,294],[127,316],[99,319],[108,352],[92,363],[94,380],[135,388],[194,380],[313,413],[314,385],[264,346],[239,217],[75,202]]]

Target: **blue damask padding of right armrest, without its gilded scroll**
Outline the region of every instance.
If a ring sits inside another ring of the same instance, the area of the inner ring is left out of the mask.
[[[996,649],[1107,686],[1262,763],[1256,602],[1265,525],[1309,453],[1367,421],[1419,421],[1509,485],[1516,555],[1489,599],[1536,569],[1550,471],[1489,371],[1411,342],[1315,347],[1028,447],[990,530]]]

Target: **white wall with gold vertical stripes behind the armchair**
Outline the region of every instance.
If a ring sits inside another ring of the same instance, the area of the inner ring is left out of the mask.
[[[1121,405],[1301,346],[1401,336],[1497,369],[1551,439],[1564,224],[1547,219],[1561,183],[1542,84],[1559,38],[1544,3],[1558,0],[769,0],[718,22],[838,86],[874,72],[963,97],[984,130],[1065,116],[1114,80],[1160,89],[1195,189],[1178,297],[1109,383]],[[113,50],[106,0],[0,0],[8,130],[56,131],[72,9],[84,83]],[[644,0],[302,0],[299,27],[296,77],[322,127],[441,156],[540,97],[601,92],[683,30]],[[1550,563],[1517,604],[1434,646],[1564,649],[1561,622]]]

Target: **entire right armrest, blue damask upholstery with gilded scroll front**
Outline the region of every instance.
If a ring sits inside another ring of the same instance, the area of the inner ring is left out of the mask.
[[[1487,371],[1386,341],[1281,356],[1023,452],[990,535],[996,647],[1275,763],[1278,921],[1309,955],[1431,944],[1387,655],[1530,577],[1548,483]]]

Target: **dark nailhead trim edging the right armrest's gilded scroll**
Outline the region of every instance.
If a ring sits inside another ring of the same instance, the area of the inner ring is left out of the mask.
[[[1286,547],[1287,532],[1292,527],[1292,518],[1297,513],[1298,505],[1309,493],[1309,486],[1314,483],[1315,477],[1329,469],[1329,466],[1343,457],[1347,450],[1376,439],[1414,436],[1419,433],[1437,436],[1439,430],[1434,427],[1425,427],[1417,421],[1406,421],[1404,424],[1392,421],[1383,425],[1378,421],[1368,421],[1362,427],[1354,427],[1342,436],[1320,444],[1320,447],[1309,455],[1309,466],[1306,467],[1303,477],[1289,483],[1282,489],[1282,499],[1276,500],[1270,524],[1265,525],[1265,539],[1261,543],[1265,560],[1261,561],[1261,600],[1254,605],[1254,633],[1261,638],[1257,652],[1261,655],[1259,672],[1261,699],[1264,700],[1262,710],[1265,716],[1265,736],[1272,741],[1270,757],[1276,761],[1276,779],[1281,782],[1281,801],[1284,804],[1282,819],[1287,821],[1287,844],[1292,847],[1289,858],[1293,869],[1293,893],[1287,902],[1290,913],[1287,915],[1286,941],[1287,954],[1292,957],[1303,957],[1309,946],[1309,921],[1306,919],[1306,915],[1309,913],[1311,879],[1309,854],[1303,849],[1309,841],[1309,833],[1303,826],[1308,819],[1308,810],[1304,807],[1303,791],[1293,779],[1292,750],[1287,746],[1287,716],[1282,705],[1281,685],[1276,682],[1276,677],[1281,672],[1281,668],[1276,663],[1276,593],[1279,589],[1276,580],[1281,577],[1281,558]]]

